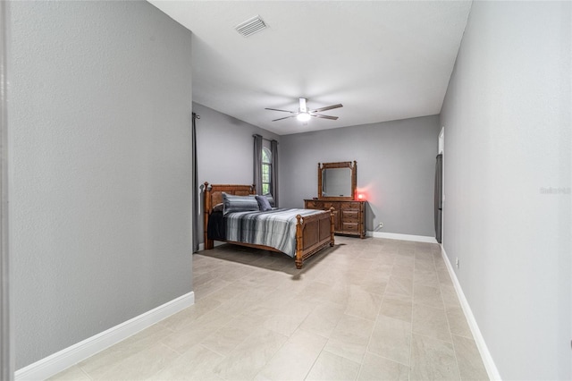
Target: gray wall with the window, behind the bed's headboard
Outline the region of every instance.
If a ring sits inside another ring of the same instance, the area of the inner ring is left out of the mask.
[[[198,197],[200,200],[199,241],[203,237],[203,186],[211,184],[251,184],[253,182],[254,138],[262,135],[267,140],[281,141],[281,137],[255,125],[242,122],[212,108],[193,103],[197,121]],[[264,144],[270,147],[269,141]],[[278,145],[279,163],[284,150]],[[279,180],[280,182],[280,180]]]

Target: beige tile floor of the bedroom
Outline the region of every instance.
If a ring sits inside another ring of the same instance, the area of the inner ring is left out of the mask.
[[[55,380],[488,379],[438,245],[336,236],[307,260],[223,245],[196,303]]]

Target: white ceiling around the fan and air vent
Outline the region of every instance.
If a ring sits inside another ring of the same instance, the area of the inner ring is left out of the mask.
[[[193,32],[193,101],[280,135],[439,114],[470,1],[148,0]],[[268,28],[234,27],[260,15]],[[296,118],[299,97],[337,121]]]

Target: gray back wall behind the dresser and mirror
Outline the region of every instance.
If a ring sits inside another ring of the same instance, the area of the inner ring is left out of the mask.
[[[357,189],[368,200],[366,229],[434,236],[437,115],[282,136],[282,207],[317,196],[317,165],[357,161]]]

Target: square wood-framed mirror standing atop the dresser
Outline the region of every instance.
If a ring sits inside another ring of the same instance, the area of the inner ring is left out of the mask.
[[[356,197],[357,163],[318,163],[318,199],[346,199]]]

